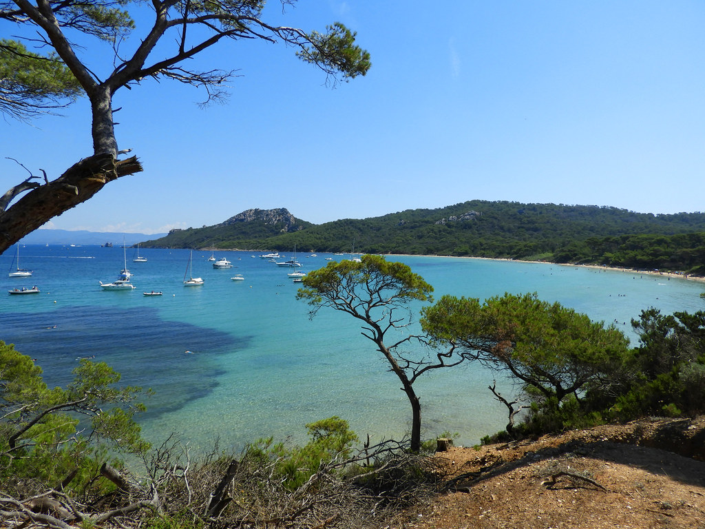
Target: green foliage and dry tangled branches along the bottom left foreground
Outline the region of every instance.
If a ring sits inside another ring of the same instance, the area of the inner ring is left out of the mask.
[[[200,459],[171,437],[140,439],[135,388],[85,360],[66,389],[0,345],[0,525],[373,528],[437,491],[439,468],[396,442],[355,449],[348,422],[307,425],[305,446],[260,439]],[[111,454],[131,454],[128,469]],[[141,470],[140,470],[141,469]]]

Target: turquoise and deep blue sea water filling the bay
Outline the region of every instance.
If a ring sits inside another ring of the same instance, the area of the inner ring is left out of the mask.
[[[9,270],[15,247],[0,255]],[[192,253],[192,275],[203,286],[183,286],[190,250],[140,248],[147,262],[132,262],[135,249],[98,245],[20,246],[28,278],[3,273],[0,287],[37,286],[41,293],[0,294],[0,339],[35,359],[50,386],[64,386],[81,358],[104,361],[121,384],[154,391],[145,396],[139,422],[145,437],[161,444],[177,434],[190,450],[240,451],[264,437],[290,444],[307,441],[305,425],[337,415],[360,439],[403,439],[411,411],[400,383],[353,317],[321,309],[314,317],[296,300],[300,284],[290,269],[261,253],[216,250],[230,269],[214,269],[211,250]],[[284,253],[282,257],[293,257]],[[345,256],[299,253],[302,271]],[[100,287],[117,279],[126,259],[132,291]],[[630,320],[646,308],[664,314],[705,310],[699,281],[638,272],[548,263],[461,257],[387,256],[409,265],[434,286],[484,300],[535,292],[539,298],[614,323],[637,345]],[[231,277],[242,274],[244,281]],[[2,292],[0,290],[0,292]],[[144,296],[144,292],[162,296]],[[414,322],[422,304],[410,310]],[[405,332],[414,332],[412,323]],[[506,408],[488,387],[505,396],[511,382],[477,363],[436,370],[418,380],[422,435],[450,433],[455,444],[477,444],[503,430]]]

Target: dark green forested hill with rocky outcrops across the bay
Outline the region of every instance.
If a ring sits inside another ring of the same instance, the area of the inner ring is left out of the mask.
[[[700,235],[686,239],[673,237],[686,233]],[[603,262],[607,258],[611,262],[604,264],[625,266],[634,265],[623,262],[625,257],[632,261],[636,258],[639,266],[651,266],[654,257],[671,259],[676,250],[686,245],[691,250],[687,258],[697,267],[705,262],[704,238],[705,213],[648,214],[616,207],[472,200],[438,209],[407,209],[383,217],[341,219],[325,224],[296,219],[283,208],[250,209],[215,226],[173,230],[166,237],[142,244],[154,248],[215,245],[286,251],[296,245],[302,251],[350,252],[354,243],[355,251],[361,253],[472,255],[562,262]],[[628,248],[623,248],[625,244]],[[640,245],[653,249],[654,244],[661,248],[656,251],[658,255],[651,252],[646,260],[635,255],[645,249],[639,248]],[[703,251],[698,253],[698,248]],[[632,254],[625,255],[627,250]]]

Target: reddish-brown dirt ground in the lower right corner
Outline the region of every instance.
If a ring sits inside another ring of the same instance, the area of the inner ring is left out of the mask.
[[[705,529],[705,418],[439,452],[448,492],[390,529]]]

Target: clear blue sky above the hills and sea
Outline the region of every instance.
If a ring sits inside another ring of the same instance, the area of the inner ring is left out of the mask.
[[[228,42],[190,66],[238,69],[224,105],[145,80],[115,98],[145,171],[45,227],[157,233],[286,207],[320,224],[465,200],[704,211],[705,2],[299,0],[269,20],[341,21],[372,55],[326,87],[294,50]],[[0,24],[0,36],[17,30]],[[138,29],[132,37],[137,42]],[[94,71],[106,51],[88,49]],[[101,63],[104,63],[101,66]],[[0,120],[4,189],[92,154],[84,99]]]

